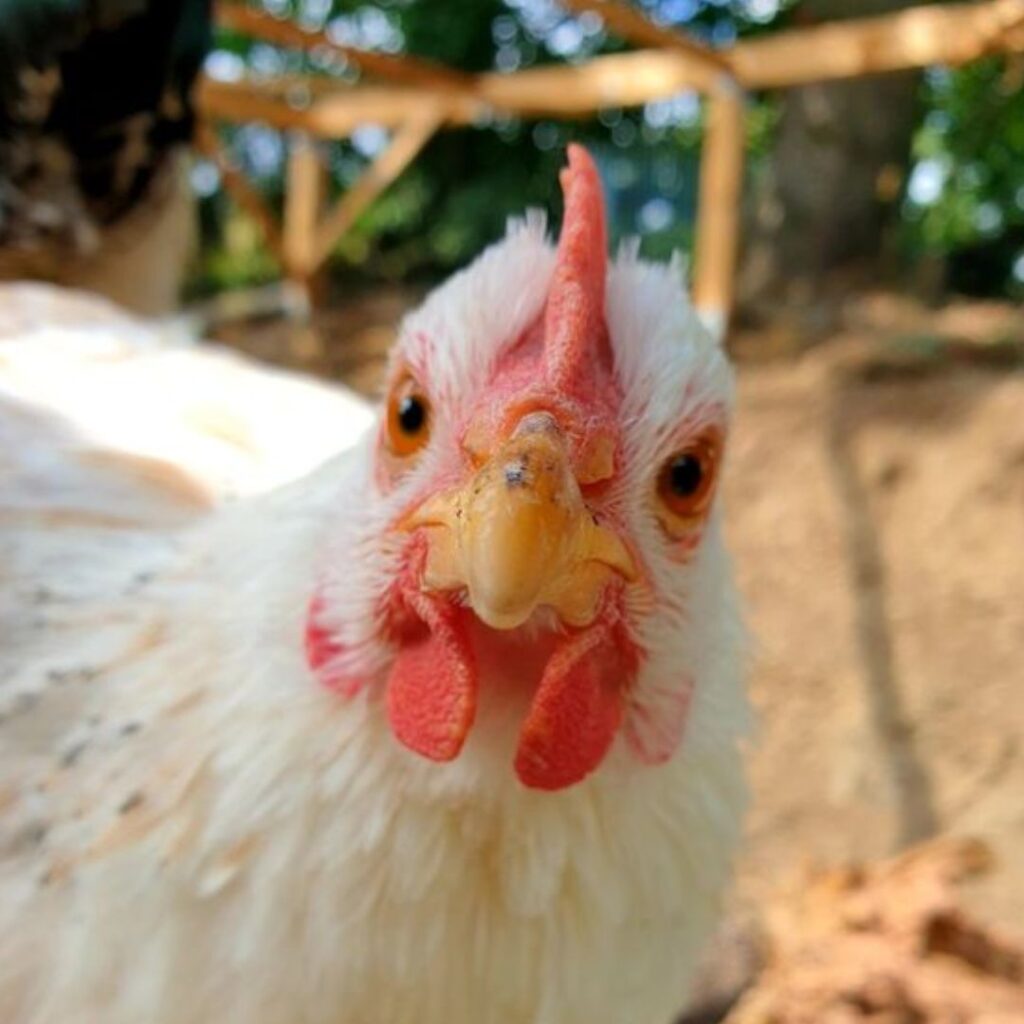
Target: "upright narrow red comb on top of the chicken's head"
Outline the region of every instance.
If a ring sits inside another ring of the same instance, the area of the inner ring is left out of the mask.
[[[575,390],[588,351],[604,338],[607,231],[601,179],[590,154],[574,143],[560,175],[565,218],[544,318],[548,379]]]

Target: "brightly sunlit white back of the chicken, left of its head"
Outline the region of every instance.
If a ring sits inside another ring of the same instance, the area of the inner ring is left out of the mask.
[[[344,389],[196,344],[193,330],[145,324],[84,293],[0,285],[4,492],[15,467],[38,475],[33,454],[56,450],[62,475],[44,462],[45,484],[68,490],[71,509],[108,500],[88,494],[102,487],[82,475],[84,460],[89,470],[109,464],[129,489],[156,484],[156,510],[176,489],[205,513],[309,472],[371,424],[372,410]],[[83,489],[68,488],[70,475]]]

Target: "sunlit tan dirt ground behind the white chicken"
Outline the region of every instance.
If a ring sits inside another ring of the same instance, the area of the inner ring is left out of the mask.
[[[293,336],[286,361],[372,393],[416,296]],[[760,728],[736,904],[810,864],[977,837],[967,893],[1024,928],[1024,313],[864,297],[827,341],[740,334],[727,525]],[[280,329],[243,347],[281,357]]]

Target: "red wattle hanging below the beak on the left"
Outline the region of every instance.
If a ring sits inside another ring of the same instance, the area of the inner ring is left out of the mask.
[[[446,601],[411,595],[423,627],[402,638],[387,684],[395,738],[431,761],[458,757],[476,715],[477,674],[465,626]]]

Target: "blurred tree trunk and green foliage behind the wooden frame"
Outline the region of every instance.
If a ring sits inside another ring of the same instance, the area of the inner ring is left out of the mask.
[[[657,24],[725,46],[785,27],[906,6],[896,0],[660,0],[642,9]],[[412,52],[467,72],[582,65],[628,45],[604,31],[599,14],[572,16],[556,0],[264,7],[310,28],[328,26],[340,41]],[[247,72],[323,73],[331,59],[221,32],[206,67],[213,78],[232,81]],[[838,270],[859,270],[868,280],[888,273],[931,300],[948,293],[1024,295],[1022,77],[1019,59],[995,56],[964,69],[750,96],[745,213],[770,233],[776,266],[748,268],[744,299],[777,299],[784,279],[806,301],[820,276]],[[556,171],[570,139],[585,140],[601,162],[613,242],[638,236],[654,258],[690,252],[702,126],[696,92],[602,109],[586,120],[489,120],[433,139],[339,241],[332,278],[347,294],[361,283],[429,283],[497,238],[510,212],[557,209]],[[380,127],[367,124],[332,145],[332,187],[351,184],[386,141]],[[231,133],[230,145],[280,205],[286,170],[280,133],[245,125]],[[193,183],[204,230],[193,293],[272,278],[272,261],[258,237],[239,227],[240,214],[220,191],[215,169],[197,165]],[[795,275],[805,279],[803,289],[795,288]]]

